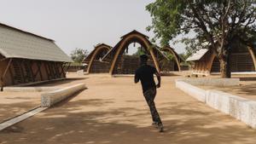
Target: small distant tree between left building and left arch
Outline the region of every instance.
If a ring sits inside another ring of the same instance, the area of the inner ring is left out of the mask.
[[[74,62],[81,63],[87,55],[88,51],[86,49],[76,48],[72,51],[71,58]]]

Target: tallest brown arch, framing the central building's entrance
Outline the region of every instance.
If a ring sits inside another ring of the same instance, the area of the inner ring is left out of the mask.
[[[157,69],[158,72],[160,72],[160,66],[156,60],[156,57],[154,55],[153,46],[152,43],[149,42],[148,37],[143,35],[140,32],[133,31],[125,36],[121,37],[122,39],[119,41],[119,43],[113,48],[113,60],[111,62],[109,73],[113,74],[114,68],[117,64],[117,60],[120,55],[123,55],[125,49],[130,43],[140,43],[145,50],[148,50],[148,53],[151,55],[152,60],[154,62],[154,66]],[[111,54],[109,54],[111,55]]]

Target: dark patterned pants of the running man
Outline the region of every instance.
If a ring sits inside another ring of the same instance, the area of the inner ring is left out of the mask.
[[[158,125],[161,125],[162,122],[161,122],[160,116],[156,110],[156,107],[154,106],[154,97],[156,95],[156,88],[151,88],[146,90],[143,93],[143,95],[148,103],[148,107],[150,108],[153,122],[156,122]]]

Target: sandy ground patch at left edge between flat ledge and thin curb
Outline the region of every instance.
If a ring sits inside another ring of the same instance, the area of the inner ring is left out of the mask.
[[[39,105],[38,92],[0,92],[0,122]]]

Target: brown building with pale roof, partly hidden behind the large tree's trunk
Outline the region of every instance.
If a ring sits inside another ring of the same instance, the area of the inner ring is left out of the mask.
[[[253,46],[234,44],[230,55],[231,72],[256,72],[256,49]],[[192,61],[194,74],[218,74],[220,72],[220,63],[216,55],[211,50],[200,49],[194,55],[191,55],[187,61]]]

